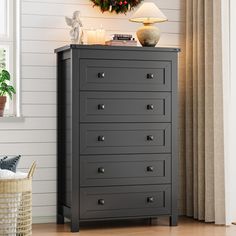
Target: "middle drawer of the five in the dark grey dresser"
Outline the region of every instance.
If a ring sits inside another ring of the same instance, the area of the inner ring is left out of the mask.
[[[81,124],[81,154],[171,152],[171,124]]]

